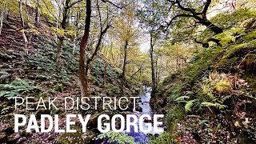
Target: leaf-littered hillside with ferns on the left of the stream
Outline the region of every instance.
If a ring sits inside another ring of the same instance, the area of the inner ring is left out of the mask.
[[[1,133],[0,142],[7,143],[41,143],[55,142],[61,135],[59,133],[14,133],[14,114],[35,114],[40,119],[40,114],[62,114],[62,127],[65,114],[80,114],[74,110],[26,110],[25,104],[14,110],[14,97],[34,97],[33,106],[37,106],[38,98],[80,97],[78,77],[79,51],[73,54],[73,46],[66,41],[62,53],[62,68],[55,66],[56,43],[54,31],[46,24],[37,27],[31,39],[29,55],[24,53],[22,35],[18,32],[20,22],[12,14],[8,21],[3,23],[0,35],[0,111]],[[95,59],[90,71],[90,95],[120,97],[122,70],[107,63],[102,56]],[[127,78],[126,94],[137,96],[140,90],[139,82]],[[58,102],[63,106],[64,103]],[[100,105],[100,103],[99,103]],[[34,107],[35,108],[35,107]],[[101,110],[86,111],[89,114],[100,114]],[[85,112],[82,112],[85,113]],[[108,113],[105,111],[104,113]],[[109,113],[119,113],[110,111]],[[91,127],[93,129],[94,127]],[[90,134],[93,135],[94,134]],[[89,137],[89,141],[93,138]],[[66,135],[68,136],[68,135]],[[71,135],[72,136],[72,135]],[[78,136],[73,136],[74,138]],[[85,142],[88,141],[85,139]],[[89,142],[88,141],[88,142]]]

